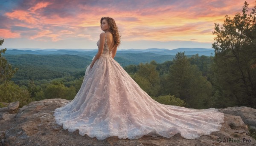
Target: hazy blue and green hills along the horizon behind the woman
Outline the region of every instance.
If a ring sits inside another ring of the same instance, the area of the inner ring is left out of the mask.
[[[84,51],[79,49],[39,49],[19,50],[7,49],[3,54],[13,67],[19,68],[13,80],[24,84],[29,79],[49,80],[52,78],[64,77],[70,74],[84,74],[85,67],[92,61],[97,49]],[[169,49],[128,49],[118,50],[115,60],[122,66],[150,63],[155,60],[157,63],[171,61],[177,52],[183,52],[190,57],[194,54],[210,56],[214,54],[213,49],[202,48],[178,48]]]

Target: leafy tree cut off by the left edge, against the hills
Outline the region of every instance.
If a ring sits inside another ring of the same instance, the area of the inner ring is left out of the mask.
[[[4,40],[0,40],[0,46],[2,46]],[[12,69],[12,65],[7,63],[7,60],[2,56],[2,53],[6,52],[5,49],[0,50],[0,84],[8,82],[18,69]]]

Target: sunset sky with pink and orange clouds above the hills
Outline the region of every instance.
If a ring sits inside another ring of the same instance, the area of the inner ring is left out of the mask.
[[[255,0],[247,0],[253,8]],[[118,49],[212,48],[214,23],[244,0],[0,0],[0,48],[97,49],[101,17],[112,17]]]

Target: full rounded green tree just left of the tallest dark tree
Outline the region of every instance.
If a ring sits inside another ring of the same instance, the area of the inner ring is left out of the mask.
[[[166,94],[186,101],[186,107],[204,109],[211,97],[212,85],[198,66],[191,65],[185,52],[178,52],[166,77]]]

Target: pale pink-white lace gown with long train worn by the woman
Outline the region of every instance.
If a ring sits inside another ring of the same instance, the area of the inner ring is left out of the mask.
[[[99,41],[97,42],[99,47]],[[111,50],[112,51],[112,50]],[[219,131],[224,114],[218,109],[188,109],[153,100],[112,57],[105,39],[102,56],[87,67],[74,99],[55,109],[63,129],[103,140],[107,137],[136,139],[143,135],[186,139]]]

